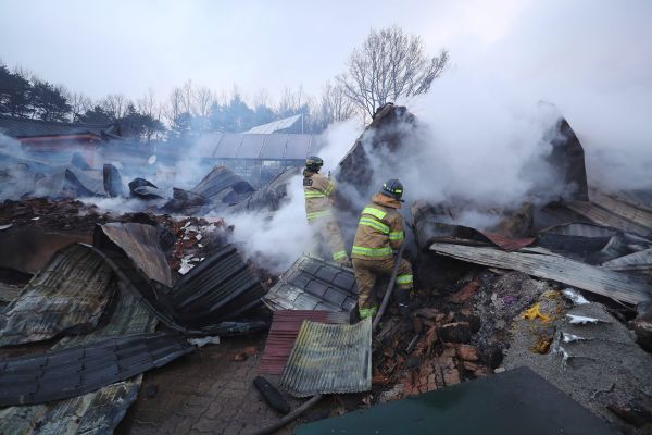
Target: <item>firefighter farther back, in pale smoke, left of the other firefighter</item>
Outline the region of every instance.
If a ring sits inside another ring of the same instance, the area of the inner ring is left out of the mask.
[[[316,236],[327,241],[333,260],[343,265],[350,265],[351,260],[344,249],[342,233],[331,210],[335,184],[319,174],[323,165],[324,161],[316,156],[311,156],[305,160],[303,170],[305,215]],[[319,245],[319,243],[315,244],[315,246]]]

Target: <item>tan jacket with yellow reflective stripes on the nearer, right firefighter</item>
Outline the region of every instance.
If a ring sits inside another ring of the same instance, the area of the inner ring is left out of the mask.
[[[405,237],[403,216],[397,209],[401,202],[385,195],[374,195],[361,213],[351,257],[361,260],[393,258]]]

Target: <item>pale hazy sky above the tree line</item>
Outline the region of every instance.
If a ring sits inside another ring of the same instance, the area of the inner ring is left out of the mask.
[[[398,24],[453,60],[499,40],[529,1],[0,0],[0,59],[100,98],[191,79],[249,97],[342,72],[371,27]],[[383,4],[383,5],[380,5]]]

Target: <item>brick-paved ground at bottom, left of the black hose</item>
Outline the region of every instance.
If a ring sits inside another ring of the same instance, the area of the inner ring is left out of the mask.
[[[264,338],[264,334],[223,338],[220,345],[147,372],[138,399],[115,433],[250,434],[278,419],[281,415],[253,386]],[[238,361],[244,350],[252,355]],[[299,423],[277,433],[291,434]]]

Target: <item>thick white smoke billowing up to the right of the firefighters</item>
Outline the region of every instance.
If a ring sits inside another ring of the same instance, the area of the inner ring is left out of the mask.
[[[650,12],[643,1],[531,2],[502,39],[452,50],[454,64],[427,95],[397,101],[421,127],[398,154],[367,152],[374,177],[360,201],[388,178],[403,182],[408,203],[510,209],[566,197],[544,160],[562,116],[584,146],[590,187],[651,188]],[[473,211],[457,217],[494,223]]]

